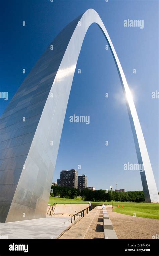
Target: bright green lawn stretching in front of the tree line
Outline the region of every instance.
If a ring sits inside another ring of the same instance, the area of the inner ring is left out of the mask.
[[[89,203],[89,201],[82,201],[80,197],[76,199],[52,197],[49,198],[49,204],[53,203]],[[91,202],[100,204],[102,202]],[[111,202],[105,202],[105,204],[111,204]],[[159,204],[158,203],[113,203],[113,206],[118,206],[114,211],[117,213],[127,214],[133,216],[136,214],[136,217],[144,217],[151,219],[159,219]],[[123,208],[122,208],[123,205]]]

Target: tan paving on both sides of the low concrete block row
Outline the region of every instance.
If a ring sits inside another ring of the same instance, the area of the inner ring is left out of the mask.
[[[59,239],[103,239],[103,213],[101,207],[91,210]],[[159,234],[159,221],[112,212],[106,207],[118,239],[152,239]]]

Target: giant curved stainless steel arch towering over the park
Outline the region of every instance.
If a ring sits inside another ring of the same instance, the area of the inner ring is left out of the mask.
[[[46,216],[59,143],[85,34],[97,23],[111,49],[134,136],[146,202],[158,191],[133,98],[108,32],[89,9],[68,24],[21,84],[0,119],[0,222]],[[53,50],[52,50],[53,49]]]

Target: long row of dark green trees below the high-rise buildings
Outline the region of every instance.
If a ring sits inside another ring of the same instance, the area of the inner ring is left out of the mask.
[[[77,199],[78,196],[81,196],[82,200],[92,201],[92,202],[110,202],[111,199],[111,190],[90,190],[88,188],[82,189],[80,192],[79,189],[70,188],[67,186],[53,186],[51,187],[50,196],[60,196],[62,198]],[[126,191],[118,192],[112,190],[113,201],[115,202],[144,202],[144,192],[143,191]]]

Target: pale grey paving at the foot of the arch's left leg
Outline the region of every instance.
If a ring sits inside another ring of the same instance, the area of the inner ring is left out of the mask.
[[[70,217],[0,223],[0,238],[5,235],[7,239],[55,239],[70,225]]]

